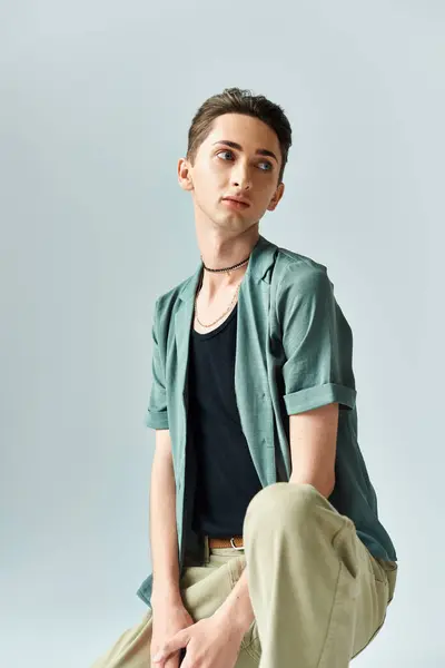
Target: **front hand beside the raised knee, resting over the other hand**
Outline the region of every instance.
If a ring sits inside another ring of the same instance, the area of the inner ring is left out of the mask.
[[[234,668],[243,637],[243,628],[230,621],[228,615],[218,613],[217,610],[211,617],[178,631],[151,660],[157,668],[169,668],[171,654],[185,647],[181,668]]]

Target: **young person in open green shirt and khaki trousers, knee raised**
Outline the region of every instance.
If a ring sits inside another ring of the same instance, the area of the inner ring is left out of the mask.
[[[352,331],[326,266],[259,234],[290,145],[250,91],[192,119],[178,178],[201,262],[152,325],[149,608],[95,668],[344,668],[386,619],[397,557],[357,441]]]

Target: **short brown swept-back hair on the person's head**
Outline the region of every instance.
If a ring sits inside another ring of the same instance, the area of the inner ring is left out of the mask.
[[[281,151],[281,167],[278,184],[287,163],[291,146],[290,124],[279,105],[275,105],[263,95],[254,96],[250,90],[225,88],[222,92],[208,98],[197,110],[188,131],[187,159],[195,161],[199,146],[211,131],[212,122],[224,114],[244,114],[267,124],[277,135]]]

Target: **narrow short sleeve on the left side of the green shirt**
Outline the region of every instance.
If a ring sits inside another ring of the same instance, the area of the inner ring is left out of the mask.
[[[168,429],[167,391],[165,362],[159,343],[158,302],[155,304],[155,315],[151,328],[152,358],[151,358],[151,390],[148,402],[145,424],[151,429]]]

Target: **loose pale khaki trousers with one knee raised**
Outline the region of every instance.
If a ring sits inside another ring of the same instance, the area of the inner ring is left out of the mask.
[[[394,597],[397,563],[375,559],[310,484],[278,482],[247,508],[244,551],[209,550],[186,564],[180,590],[195,621],[209,617],[248,569],[255,620],[236,668],[346,668],[375,638]],[[151,610],[92,668],[149,668]]]

